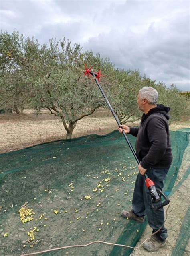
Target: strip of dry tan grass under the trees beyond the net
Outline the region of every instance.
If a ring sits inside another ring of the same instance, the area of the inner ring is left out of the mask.
[[[131,125],[138,125],[138,122]],[[187,127],[190,127],[189,119],[170,125],[171,130]],[[117,128],[111,112],[99,109],[93,116],[77,122],[72,138],[94,133],[104,135]],[[65,139],[66,135],[60,118],[49,114],[47,110],[38,116],[34,110],[24,110],[23,114],[0,114],[0,130],[0,153]]]

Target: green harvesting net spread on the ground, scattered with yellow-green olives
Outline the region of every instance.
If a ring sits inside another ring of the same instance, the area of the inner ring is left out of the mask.
[[[135,137],[128,138],[135,147]],[[167,195],[188,133],[171,132],[171,139],[174,161],[165,181]],[[137,173],[137,163],[118,131],[1,154],[0,254],[20,255],[95,240],[135,246],[146,222],[125,220],[120,212],[131,208]],[[129,255],[131,251],[91,244],[40,255]]]

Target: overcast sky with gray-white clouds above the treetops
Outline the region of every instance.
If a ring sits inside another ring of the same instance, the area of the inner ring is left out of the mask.
[[[0,29],[40,43],[65,37],[116,68],[190,91],[189,13],[189,0],[0,0]]]

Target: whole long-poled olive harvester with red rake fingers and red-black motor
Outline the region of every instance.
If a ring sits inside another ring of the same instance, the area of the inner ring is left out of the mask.
[[[102,90],[102,88],[101,88],[101,86],[99,84],[99,78],[101,78],[101,76],[104,76],[104,75],[101,74],[100,70],[99,70],[99,72],[97,74],[95,74],[94,72],[91,72],[91,68],[88,69],[87,66],[85,66],[85,75],[87,74],[89,76],[89,74],[91,74],[95,78],[95,81],[96,81],[96,83],[97,83],[97,85],[98,85],[98,87],[99,87],[99,89],[100,89],[104,99],[106,100],[107,105],[109,106],[109,109],[111,110],[111,113],[113,114],[113,116],[114,116],[117,124],[119,125],[119,127],[121,127],[121,124],[120,124],[117,116],[115,115],[115,112],[113,111],[113,109],[112,109],[112,107],[111,107],[111,105],[110,105],[110,103],[109,103],[105,93],[103,92],[103,90]],[[124,130],[123,130],[122,133],[123,133],[123,136],[125,137],[125,140],[127,141],[128,145],[129,145],[129,148],[131,149],[131,151],[132,151],[132,153],[133,153],[137,163],[139,164],[140,161],[137,158],[137,155],[136,155],[136,153],[135,153],[135,151],[134,151],[134,149],[133,149],[133,147],[131,145],[131,142],[127,138],[127,135],[125,134]],[[164,193],[162,193],[162,191],[160,189],[157,189],[155,187],[154,182],[152,180],[150,180],[150,178],[148,178],[146,173],[144,173],[144,176],[146,178],[146,180],[145,180],[146,186],[147,186],[148,190],[150,191],[150,198],[151,198],[151,204],[152,204],[153,210],[156,211],[156,210],[162,208],[163,206],[169,204],[170,200],[167,198],[167,196]],[[163,198],[165,199],[164,202],[162,202],[161,196],[163,196]]]

